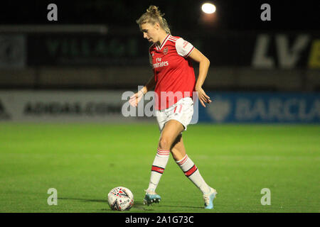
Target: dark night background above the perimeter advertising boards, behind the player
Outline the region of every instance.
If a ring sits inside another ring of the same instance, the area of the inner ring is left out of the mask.
[[[149,43],[136,20],[156,5],[172,35],[186,38],[210,59],[208,89],[319,91],[319,1],[213,0],[210,23],[203,22],[204,2],[1,2],[0,88],[132,89],[144,84]],[[51,3],[58,7],[58,21],[47,19]],[[271,21],[260,18],[265,3]],[[85,31],[92,27],[99,28]],[[80,75],[79,69],[87,71]]]

